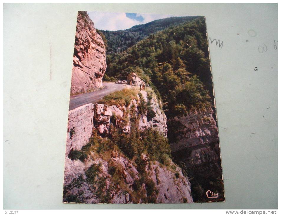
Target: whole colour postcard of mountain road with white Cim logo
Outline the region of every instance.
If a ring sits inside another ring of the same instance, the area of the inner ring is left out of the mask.
[[[218,201],[205,17],[79,11],[63,202]]]

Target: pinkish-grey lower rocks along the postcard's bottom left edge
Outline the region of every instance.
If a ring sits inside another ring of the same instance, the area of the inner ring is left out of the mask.
[[[113,204],[144,203],[143,199],[149,198],[147,184],[150,180],[153,181],[158,191],[155,203],[193,202],[190,183],[178,167],[172,171],[165,166],[162,167],[158,162],[147,164],[145,171],[149,175],[148,181],[139,185],[139,193],[142,194],[138,196],[133,194],[136,189],[135,184],[140,179],[136,166],[118,153],[111,155],[111,161],[114,162],[115,166],[118,166],[120,178],[123,181],[122,186],[112,186],[114,178],[109,173],[107,161],[100,158],[95,160],[89,158],[81,162],[79,160],[72,161],[66,157],[63,201],[71,202],[71,198],[75,196],[75,202],[81,203],[100,203],[105,198],[107,203]],[[92,165],[99,166],[100,170],[96,175],[95,182],[90,181],[86,174]]]

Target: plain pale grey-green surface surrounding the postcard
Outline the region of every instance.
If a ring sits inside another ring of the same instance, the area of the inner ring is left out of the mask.
[[[226,202],[62,203],[79,10],[206,17],[208,37],[223,41],[209,47]],[[277,4],[4,4],[4,209],[276,209],[277,10]],[[267,51],[259,53],[264,44]]]

